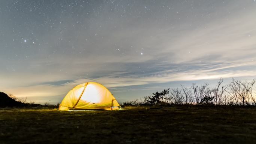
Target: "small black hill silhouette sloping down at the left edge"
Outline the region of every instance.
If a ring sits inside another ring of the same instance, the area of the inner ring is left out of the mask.
[[[24,106],[27,106],[27,104],[24,104],[19,101],[15,101],[4,92],[0,92],[0,107],[24,107]]]

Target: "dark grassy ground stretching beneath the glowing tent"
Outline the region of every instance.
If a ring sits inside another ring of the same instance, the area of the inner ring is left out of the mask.
[[[0,144],[256,144],[255,107],[0,109]]]

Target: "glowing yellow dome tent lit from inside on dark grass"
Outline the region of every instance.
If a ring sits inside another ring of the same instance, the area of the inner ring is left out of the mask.
[[[95,82],[75,86],[60,103],[59,110],[118,110],[120,105],[103,85]]]

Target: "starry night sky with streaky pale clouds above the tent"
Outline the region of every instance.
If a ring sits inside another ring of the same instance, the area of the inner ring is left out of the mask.
[[[0,91],[57,103],[94,81],[119,102],[256,78],[255,0],[1,0]]]

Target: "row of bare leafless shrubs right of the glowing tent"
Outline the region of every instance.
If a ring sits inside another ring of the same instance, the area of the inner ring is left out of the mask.
[[[181,85],[179,88],[164,89],[140,100],[127,101],[123,104],[256,105],[255,82],[255,79],[247,82],[233,78],[231,83],[223,85],[223,79],[220,78],[213,88],[208,83],[193,83],[190,88]]]

